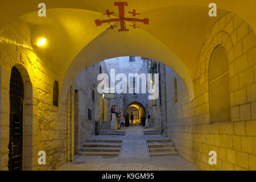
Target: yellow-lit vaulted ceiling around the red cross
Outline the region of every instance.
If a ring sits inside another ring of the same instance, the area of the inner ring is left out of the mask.
[[[47,38],[46,57],[60,78],[71,81],[82,69],[97,61],[116,56],[145,56],[174,68],[187,86],[195,79],[196,62],[210,28],[222,15],[231,11],[256,30],[256,1],[214,1],[217,17],[208,16],[207,0],[127,0],[126,12],[137,10],[139,18],[149,18],[148,25],[129,32],[106,30],[108,24],[96,26],[95,19],[106,19],[106,10],[118,15],[113,0],[46,0],[47,16],[37,15],[38,0],[2,1],[0,28],[15,19],[27,22],[36,36]],[[26,6],[24,6],[26,5]],[[243,7],[241,9],[240,7]],[[119,26],[119,25],[118,25]],[[32,41],[35,41],[32,40]]]

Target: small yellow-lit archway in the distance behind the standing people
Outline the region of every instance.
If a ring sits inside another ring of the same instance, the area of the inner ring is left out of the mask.
[[[133,125],[139,125],[141,123],[140,119],[142,114],[146,111],[145,107],[139,102],[132,102],[129,106],[126,107],[125,113],[131,114],[133,112],[134,121]]]

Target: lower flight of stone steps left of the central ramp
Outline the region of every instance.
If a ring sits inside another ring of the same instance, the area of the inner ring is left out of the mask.
[[[82,144],[82,156],[119,156],[122,140],[92,140]]]

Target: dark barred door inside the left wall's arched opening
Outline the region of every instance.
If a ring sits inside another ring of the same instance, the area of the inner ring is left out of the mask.
[[[10,139],[9,162],[10,171],[22,170],[23,158],[23,99],[24,84],[16,67],[11,69],[10,81]]]

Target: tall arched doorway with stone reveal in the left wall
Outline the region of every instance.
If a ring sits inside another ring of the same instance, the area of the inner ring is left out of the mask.
[[[16,64],[10,73],[9,170],[32,170],[33,90],[23,65]]]

